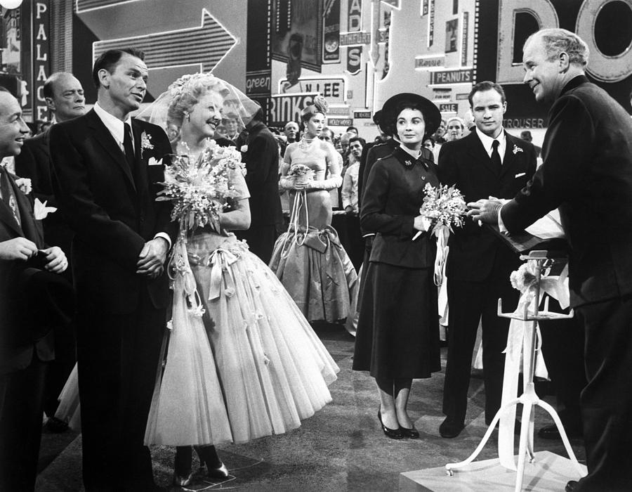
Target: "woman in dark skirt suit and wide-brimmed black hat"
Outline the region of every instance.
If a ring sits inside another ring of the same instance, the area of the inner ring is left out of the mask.
[[[416,439],[407,413],[412,380],[441,370],[436,247],[428,219],[419,214],[424,186],[439,184],[422,143],[441,115],[426,98],[400,93],[386,101],[382,117],[400,146],[374,164],[364,191],[360,223],[376,238],[360,296],[353,369],[368,370],[376,380],[384,434]],[[423,233],[413,240],[418,231]]]

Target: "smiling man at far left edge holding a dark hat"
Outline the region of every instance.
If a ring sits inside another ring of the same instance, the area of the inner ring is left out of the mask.
[[[0,88],[0,157],[18,155],[29,129]],[[72,285],[59,247],[44,245],[32,202],[0,167],[0,490],[32,491],[53,329],[70,322]]]

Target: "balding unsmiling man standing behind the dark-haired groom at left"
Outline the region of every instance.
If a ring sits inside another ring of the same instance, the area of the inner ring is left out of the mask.
[[[53,124],[76,118],[86,112],[86,98],[81,82],[67,72],[56,72],[44,82],[44,98],[48,109],[53,112]],[[57,207],[51,183],[51,156],[48,152],[49,129],[32,138],[27,138],[22,152],[15,156],[15,174],[29,178],[33,195],[48,207]],[[59,246],[62,251],[69,252],[72,231],[60,212],[48,214],[42,221],[44,240],[49,245]],[[66,280],[72,283],[72,266],[63,273]],[[44,397],[44,413],[48,416],[45,428],[49,432],[63,432],[68,424],[55,418],[58,396],[67,377],[76,362],[74,330],[55,332],[55,361],[46,376],[46,395]]]

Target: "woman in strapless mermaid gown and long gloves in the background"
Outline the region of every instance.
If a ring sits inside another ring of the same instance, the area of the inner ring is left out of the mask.
[[[355,309],[357,273],[331,227],[329,190],[342,184],[336,149],[317,138],[326,103],[315,98],[302,114],[301,141],[287,146],[279,188],[290,191],[290,226],[275,243],[270,268],[309,321],[336,322]],[[299,165],[300,164],[300,165]],[[293,176],[304,166],[308,176]],[[298,166],[298,167],[297,167]]]

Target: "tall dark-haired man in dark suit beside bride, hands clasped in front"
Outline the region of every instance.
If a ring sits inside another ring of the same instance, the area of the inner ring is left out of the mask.
[[[169,202],[155,200],[169,140],[129,117],[147,88],[143,58],[134,48],[100,55],[93,110],[51,128],[53,190],[74,231],[86,491],[154,489],[143,438],[169,303],[164,261],[176,231]]]

